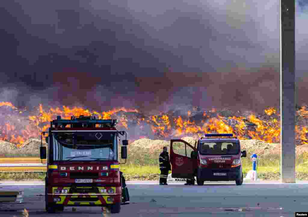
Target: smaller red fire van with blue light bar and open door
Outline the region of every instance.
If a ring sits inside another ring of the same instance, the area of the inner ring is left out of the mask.
[[[197,145],[197,147],[196,147]],[[172,178],[197,178],[198,185],[205,181],[235,181],[243,183],[240,140],[233,134],[205,134],[195,146],[174,139],[170,144]]]

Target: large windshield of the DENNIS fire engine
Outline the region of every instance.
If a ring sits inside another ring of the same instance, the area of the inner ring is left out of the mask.
[[[116,132],[53,132],[54,161],[117,160]]]

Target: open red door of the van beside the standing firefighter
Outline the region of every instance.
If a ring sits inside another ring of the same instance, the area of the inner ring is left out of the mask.
[[[191,154],[197,149],[181,139],[172,139],[170,143],[171,177],[192,178],[198,164],[197,159],[192,158]]]

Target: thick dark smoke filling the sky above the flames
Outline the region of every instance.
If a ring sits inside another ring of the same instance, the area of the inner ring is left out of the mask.
[[[278,1],[146,2],[2,1],[0,101],[144,112],[279,107]],[[305,46],[297,44],[298,88]]]

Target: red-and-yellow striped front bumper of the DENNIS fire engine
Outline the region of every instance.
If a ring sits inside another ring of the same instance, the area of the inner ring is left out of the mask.
[[[55,188],[56,187],[53,187],[53,189]],[[107,193],[48,194],[48,203],[53,203],[55,205],[63,205],[66,207],[103,207],[115,203],[121,203],[122,201],[121,188],[120,187],[111,187],[111,188],[115,190],[114,194],[107,194]]]

